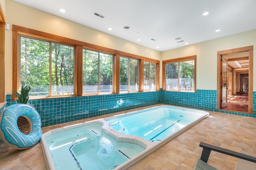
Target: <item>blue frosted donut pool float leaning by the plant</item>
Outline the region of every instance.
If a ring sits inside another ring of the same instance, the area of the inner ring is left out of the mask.
[[[20,131],[17,124],[19,117],[26,118],[28,134]],[[13,104],[0,114],[0,137],[12,148],[27,149],[40,141],[41,125],[40,115],[33,107],[26,104]]]

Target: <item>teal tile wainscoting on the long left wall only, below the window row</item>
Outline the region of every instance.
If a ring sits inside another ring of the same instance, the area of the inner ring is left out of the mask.
[[[16,101],[12,102],[11,99],[12,95],[7,95],[7,106],[16,104]],[[32,99],[28,101],[28,104],[34,106],[40,114],[42,127],[159,103],[159,91]]]

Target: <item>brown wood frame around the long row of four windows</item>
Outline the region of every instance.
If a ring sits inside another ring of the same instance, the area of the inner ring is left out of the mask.
[[[118,51],[115,49],[110,49],[106,47],[101,47],[98,45],[62,37],[59,35],[54,35],[51,33],[46,33],[18,25],[12,25],[12,89],[19,90],[18,87],[18,37],[19,35],[27,35],[30,37],[35,37],[35,38],[40,38],[40,39],[45,39],[49,41],[55,41],[58,43],[64,43],[68,45],[73,45],[76,47],[76,57],[75,57],[75,76],[74,76],[74,95],[73,96],[83,96],[82,94],[82,49],[92,49],[96,51],[102,51],[105,53],[110,53],[114,55],[114,94],[119,94],[120,93],[120,56],[128,57],[128,58],[133,58],[133,59],[138,59],[140,61],[140,84],[139,84],[139,92],[143,92],[143,76],[144,75],[144,70],[143,70],[143,64],[144,61],[149,61],[152,63],[157,64],[157,88],[156,90],[160,90],[159,82],[160,82],[160,61],[156,59],[150,59],[147,57],[142,57],[139,55],[134,55],[131,53],[126,53],[123,51]],[[49,98],[54,98],[56,96],[51,96]],[[42,98],[42,97],[41,97]],[[44,97],[45,98],[45,97]],[[12,96],[12,100],[16,100],[15,96]]]

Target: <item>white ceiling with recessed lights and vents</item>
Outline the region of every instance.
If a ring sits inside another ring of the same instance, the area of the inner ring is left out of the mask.
[[[256,29],[256,0],[14,1],[158,51]]]

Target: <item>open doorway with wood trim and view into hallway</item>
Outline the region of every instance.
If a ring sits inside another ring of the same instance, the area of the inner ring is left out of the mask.
[[[253,46],[218,51],[217,109],[252,113]]]

